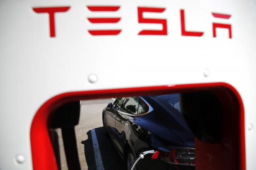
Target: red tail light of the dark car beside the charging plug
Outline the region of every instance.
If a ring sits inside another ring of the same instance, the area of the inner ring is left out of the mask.
[[[172,164],[192,165],[195,166],[195,149],[194,148],[175,148],[170,152],[159,152],[159,158]]]

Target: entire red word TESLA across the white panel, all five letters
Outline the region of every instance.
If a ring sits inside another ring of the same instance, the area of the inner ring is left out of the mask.
[[[56,37],[55,30],[55,13],[67,12],[70,7],[33,7],[32,9],[36,13],[48,13],[49,15],[49,25],[50,25],[50,37]],[[87,6],[89,11],[92,12],[116,12],[120,9],[120,6]],[[167,34],[167,20],[166,19],[156,19],[156,18],[144,18],[143,13],[163,13],[165,8],[156,7],[138,7],[138,23],[139,24],[161,24],[161,30],[142,30],[138,35],[168,35]],[[229,19],[231,15],[212,13],[213,17],[221,19]],[[180,24],[181,24],[181,36],[194,36],[201,37],[204,35],[202,31],[188,31],[185,27],[185,10],[180,9]],[[97,17],[97,18],[87,18],[90,23],[95,24],[116,24],[121,20],[121,17]],[[224,28],[229,31],[229,38],[232,38],[231,24],[221,24],[213,22],[213,37],[217,37],[216,29]],[[102,35],[118,35],[121,33],[121,29],[93,29],[88,30],[90,35],[102,36]]]

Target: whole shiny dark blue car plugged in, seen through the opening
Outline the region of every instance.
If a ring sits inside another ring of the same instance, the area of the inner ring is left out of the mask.
[[[102,118],[127,170],[147,150],[159,150],[159,159],[146,157],[136,170],[195,169],[194,135],[180,112],[179,94],[117,98]]]

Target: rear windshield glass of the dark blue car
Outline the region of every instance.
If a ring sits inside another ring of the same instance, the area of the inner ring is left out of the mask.
[[[179,106],[179,94],[159,95],[155,98],[178,119],[185,121]]]

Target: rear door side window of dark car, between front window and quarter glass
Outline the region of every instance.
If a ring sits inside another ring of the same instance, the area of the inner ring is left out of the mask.
[[[136,115],[138,113],[138,103],[139,97],[127,97],[125,98],[120,111]]]

